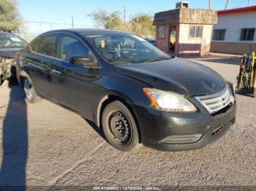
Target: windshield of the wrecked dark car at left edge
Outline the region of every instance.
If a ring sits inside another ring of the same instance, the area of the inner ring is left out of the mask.
[[[0,48],[25,47],[27,42],[15,34],[0,34]]]

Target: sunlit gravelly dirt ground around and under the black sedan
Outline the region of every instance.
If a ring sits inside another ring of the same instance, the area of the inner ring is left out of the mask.
[[[236,80],[235,58],[193,60]],[[204,149],[124,153],[77,114],[46,100],[28,104],[18,85],[5,82],[0,93],[1,185],[256,186],[255,98],[237,95],[236,125]]]

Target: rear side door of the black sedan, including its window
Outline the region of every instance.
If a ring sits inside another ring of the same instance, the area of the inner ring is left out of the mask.
[[[31,53],[23,59],[37,93],[49,99],[53,96],[50,72],[56,55],[56,39],[57,34],[39,37],[31,43]]]

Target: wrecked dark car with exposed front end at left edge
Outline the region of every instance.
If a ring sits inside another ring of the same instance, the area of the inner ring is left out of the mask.
[[[15,54],[27,44],[15,34],[0,32],[0,86],[15,77]]]

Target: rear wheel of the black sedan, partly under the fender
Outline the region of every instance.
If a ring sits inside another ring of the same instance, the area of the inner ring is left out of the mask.
[[[39,96],[37,95],[36,90],[34,89],[34,85],[29,76],[22,78],[22,87],[26,96],[26,100],[29,103],[34,104],[39,101]]]

